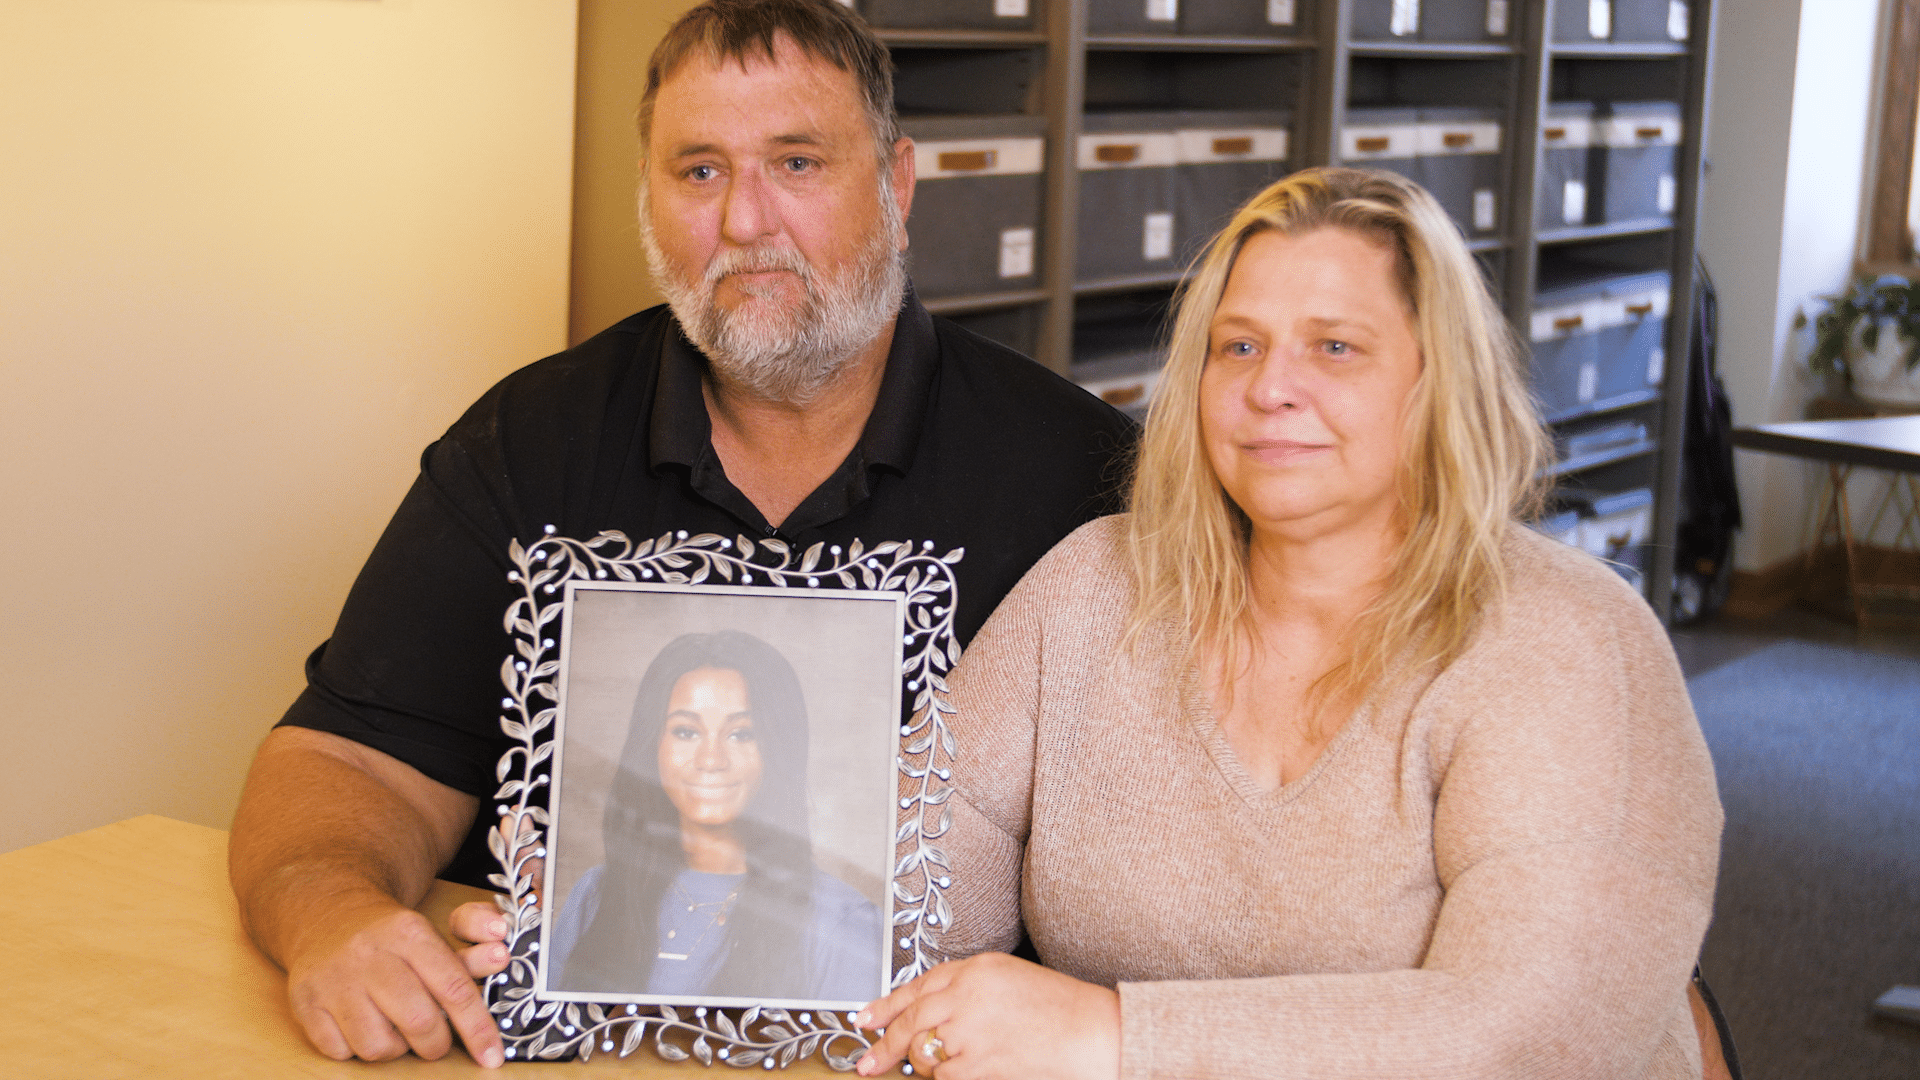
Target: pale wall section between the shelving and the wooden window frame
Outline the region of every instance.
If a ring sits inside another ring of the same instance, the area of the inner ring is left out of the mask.
[[[1862,217],[1884,0],[1724,0],[1715,38],[1701,254],[1720,296],[1734,423],[1801,419],[1793,315],[1845,286]],[[1743,571],[1807,538],[1811,465],[1736,454]]]

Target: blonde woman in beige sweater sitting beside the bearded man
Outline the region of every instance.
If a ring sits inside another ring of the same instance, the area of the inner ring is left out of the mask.
[[[975,638],[941,1080],[1699,1076],[1720,805],[1672,650],[1517,525],[1548,448],[1434,200],[1313,169],[1179,298],[1131,513]],[[991,953],[1025,924],[1044,969]]]

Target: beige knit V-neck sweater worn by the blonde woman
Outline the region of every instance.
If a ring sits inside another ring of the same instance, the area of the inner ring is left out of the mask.
[[[1123,534],[1064,540],[954,673],[952,955],[1025,917],[1119,986],[1127,1078],[1699,1076],[1720,803],[1619,577],[1515,527],[1467,653],[1261,792],[1169,638],[1117,650]]]

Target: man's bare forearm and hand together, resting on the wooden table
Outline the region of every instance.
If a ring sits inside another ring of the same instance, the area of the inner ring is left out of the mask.
[[[455,955],[413,911],[478,807],[340,736],[276,728],[261,744],[228,872],[248,934],[286,969],[294,1017],[326,1057],[442,1057],[457,1034],[474,1061],[501,1065],[468,970],[486,947]]]

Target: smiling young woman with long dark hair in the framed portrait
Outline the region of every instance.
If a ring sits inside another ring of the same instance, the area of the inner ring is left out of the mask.
[[[549,986],[674,997],[864,1001],[879,911],[814,867],[806,703],[753,634],[674,638],[634,696],[607,794],[607,863],[574,882]]]

